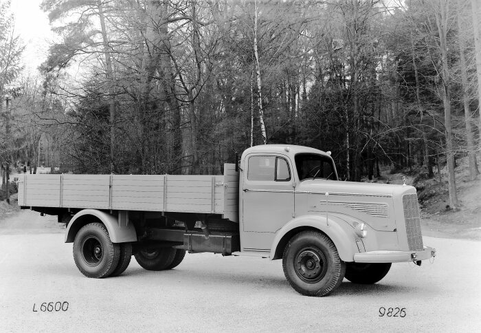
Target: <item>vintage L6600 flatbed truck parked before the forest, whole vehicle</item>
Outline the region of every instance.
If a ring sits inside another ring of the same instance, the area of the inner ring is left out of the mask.
[[[57,215],[91,278],[207,252],[282,260],[294,290],[325,296],[436,255],[413,186],[339,180],[330,152],[288,144],[250,147],[223,175],[22,175],[19,206]]]

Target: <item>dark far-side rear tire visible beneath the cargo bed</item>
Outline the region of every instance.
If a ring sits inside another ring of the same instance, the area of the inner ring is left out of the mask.
[[[135,260],[146,270],[166,270],[174,261],[175,254],[175,248],[141,245],[135,253]]]

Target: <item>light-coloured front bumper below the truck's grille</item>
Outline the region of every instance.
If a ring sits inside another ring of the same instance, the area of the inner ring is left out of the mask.
[[[355,253],[354,261],[363,263],[421,261],[436,257],[436,249],[424,246],[422,251],[370,251]]]

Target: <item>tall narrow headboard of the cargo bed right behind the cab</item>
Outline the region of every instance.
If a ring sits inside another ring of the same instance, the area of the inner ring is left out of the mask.
[[[224,164],[224,217],[233,222],[239,222],[239,172],[236,164]]]

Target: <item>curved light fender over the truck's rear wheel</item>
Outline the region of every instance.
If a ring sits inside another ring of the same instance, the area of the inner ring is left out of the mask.
[[[65,233],[65,243],[74,241],[78,230],[91,222],[102,222],[107,228],[109,237],[113,243],[125,243],[127,241],[137,241],[137,233],[132,223],[120,224],[118,217],[109,213],[98,211],[97,209],[84,209],[72,217]]]

